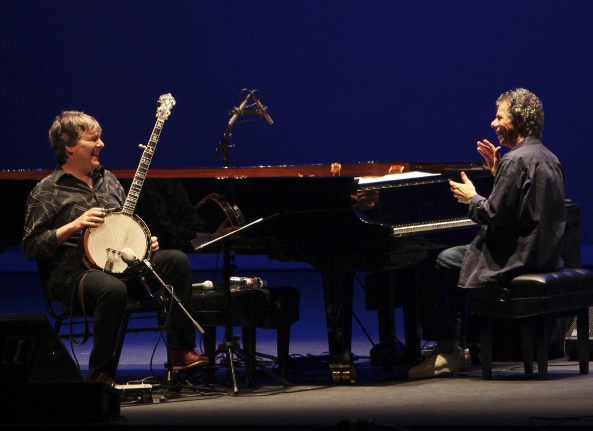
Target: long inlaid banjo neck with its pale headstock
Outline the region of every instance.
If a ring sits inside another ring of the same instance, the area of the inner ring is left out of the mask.
[[[148,173],[148,168],[150,167],[150,162],[152,161],[152,155],[154,155],[154,150],[157,147],[158,138],[161,136],[162,125],[165,123],[165,120],[168,119],[169,115],[171,114],[171,108],[176,103],[171,93],[163,94],[159,98],[159,102],[160,104],[157,109],[157,122],[152,128],[152,133],[148,143],[144,146],[144,152],[142,153],[140,163],[138,164],[138,169],[136,169],[136,174],[132,180],[132,186],[130,186],[130,190],[127,193],[126,202],[122,207],[122,213],[128,216],[132,216],[134,210],[136,209],[136,203],[138,203],[140,191],[142,190],[146,174]]]

